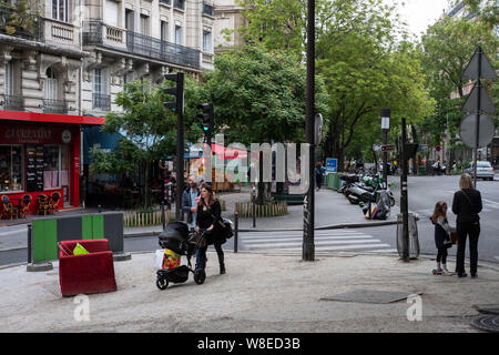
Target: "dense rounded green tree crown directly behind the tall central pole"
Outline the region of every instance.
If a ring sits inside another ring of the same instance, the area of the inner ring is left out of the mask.
[[[214,103],[215,130],[227,142],[304,139],[306,71],[295,57],[258,44],[227,51],[202,87],[200,97]],[[317,111],[327,111],[326,98],[318,81]]]

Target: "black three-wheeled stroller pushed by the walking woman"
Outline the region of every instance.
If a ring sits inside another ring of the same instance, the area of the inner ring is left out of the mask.
[[[170,282],[174,284],[184,283],[189,280],[189,273],[194,274],[194,282],[203,284],[206,278],[204,270],[192,270],[191,256],[195,254],[197,246],[189,242],[190,233],[187,224],[183,222],[172,222],[160,234],[159,243],[163,248],[169,248],[179,255],[187,256],[187,265],[175,268],[162,268],[156,272],[156,286],[166,290]]]

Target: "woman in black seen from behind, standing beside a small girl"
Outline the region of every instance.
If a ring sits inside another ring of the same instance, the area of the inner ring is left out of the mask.
[[[457,214],[458,250],[456,272],[459,277],[466,277],[465,251],[466,239],[469,236],[469,262],[471,277],[477,277],[478,267],[478,236],[480,235],[481,195],[473,187],[473,181],[469,174],[462,174],[459,179],[459,191],[454,194],[452,212]]]

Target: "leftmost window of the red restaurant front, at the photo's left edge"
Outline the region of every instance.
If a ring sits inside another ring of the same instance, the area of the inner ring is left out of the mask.
[[[22,191],[22,146],[0,145],[0,191]]]

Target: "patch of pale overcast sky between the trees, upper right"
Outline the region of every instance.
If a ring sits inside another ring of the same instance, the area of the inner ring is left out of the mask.
[[[420,38],[420,32],[434,24],[447,10],[449,0],[387,0],[396,2],[399,8],[401,20],[406,21],[409,30]]]

